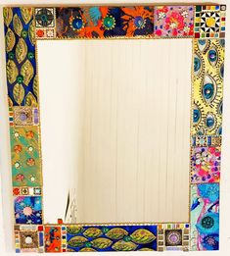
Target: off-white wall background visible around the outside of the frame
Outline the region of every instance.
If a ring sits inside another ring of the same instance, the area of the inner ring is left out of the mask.
[[[153,3],[154,1],[145,1]],[[165,2],[165,0],[158,3]],[[172,2],[172,1],[166,1]],[[185,2],[179,1],[176,2]],[[186,3],[194,1],[186,1]],[[206,3],[206,1],[196,1]],[[208,1],[219,4],[230,4],[230,1]],[[9,144],[9,127],[8,127],[8,108],[7,108],[7,88],[5,76],[5,48],[2,7],[4,5],[22,5],[22,4],[97,4],[97,3],[143,3],[143,1],[31,1],[31,0],[1,0],[0,3],[0,170],[1,170],[1,190],[0,193],[0,255],[14,255],[13,251],[13,203],[11,188],[11,170],[10,170],[10,144]],[[230,86],[227,81],[230,80],[230,6],[227,9],[227,33],[226,33],[226,54],[225,54],[225,84],[224,84],[224,111],[223,111],[223,144],[222,144],[222,168],[221,168],[221,187],[220,187],[220,251],[218,252],[190,252],[190,255],[229,255],[230,253]],[[2,205],[2,207],[1,207]],[[152,252],[145,252],[145,254]],[[179,252],[164,252],[164,255],[179,255]],[[112,255],[114,255],[113,252]],[[135,252],[143,254],[143,252]],[[32,254],[29,254],[32,255]],[[56,254],[57,255],[57,254]],[[130,252],[128,253],[130,255]],[[183,254],[184,255],[184,254]]]

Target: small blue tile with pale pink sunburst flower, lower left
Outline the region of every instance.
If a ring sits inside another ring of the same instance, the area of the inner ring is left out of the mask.
[[[42,224],[41,196],[18,196],[15,198],[16,224]]]

